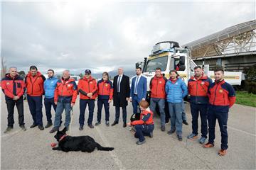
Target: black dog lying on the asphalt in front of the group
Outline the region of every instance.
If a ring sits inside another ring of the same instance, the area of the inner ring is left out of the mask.
[[[62,131],[58,130],[57,134],[54,136],[58,141],[58,147],[54,147],[55,144],[52,144],[53,150],[62,150],[64,152],[93,152],[95,148],[102,151],[111,151],[114,149],[114,147],[102,147],[90,136],[72,137],[66,135],[65,132],[66,128],[64,128]]]

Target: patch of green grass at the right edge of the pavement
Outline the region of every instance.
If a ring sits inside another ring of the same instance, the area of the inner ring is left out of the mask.
[[[235,103],[256,107],[256,94],[248,94],[247,91],[235,91],[236,101]]]

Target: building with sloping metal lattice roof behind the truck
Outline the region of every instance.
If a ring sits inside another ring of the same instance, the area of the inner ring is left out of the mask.
[[[183,47],[191,50],[196,64],[204,61],[210,69],[220,65],[225,71],[242,72],[256,64],[256,20],[225,28]]]

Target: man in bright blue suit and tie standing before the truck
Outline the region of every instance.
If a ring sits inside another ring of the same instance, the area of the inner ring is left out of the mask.
[[[132,79],[129,100],[132,102],[133,112],[138,113],[139,102],[146,99],[146,78],[142,76],[142,68],[136,69],[136,77]]]

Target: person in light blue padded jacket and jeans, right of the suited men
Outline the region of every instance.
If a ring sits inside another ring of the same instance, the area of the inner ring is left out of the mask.
[[[179,141],[182,141],[182,102],[188,94],[186,84],[177,78],[177,71],[170,71],[170,79],[166,82],[166,95],[171,119],[169,135],[176,131]]]

